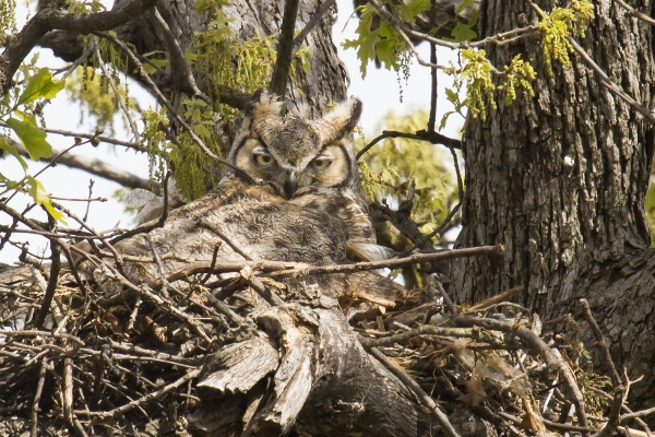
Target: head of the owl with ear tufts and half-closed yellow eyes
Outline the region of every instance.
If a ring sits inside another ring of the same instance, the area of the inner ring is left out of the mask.
[[[319,120],[282,115],[283,104],[258,91],[246,107],[230,162],[287,199],[322,187],[359,187],[350,133],[361,102],[337,105]]]

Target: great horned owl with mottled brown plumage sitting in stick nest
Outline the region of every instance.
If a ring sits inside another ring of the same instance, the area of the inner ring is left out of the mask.
[[[330,264],[345,261],[346,252],[365,260],[388,255],[376,245],[355,161],[350,134],[360,102],[315,121],[283,116],[282,106],[265,91],[255,93],[229,154],[236,168],[226,167],[212,192],[150,234],[169,263],[211,259],[216,229],[254,259]],[[143,237],[122,246],[150,251]],[[229,245],[219,256],[241,258]]]

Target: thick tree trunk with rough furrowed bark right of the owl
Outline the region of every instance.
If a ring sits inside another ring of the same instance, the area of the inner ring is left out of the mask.
[[[544,11],[559,4],[538,3]],[[640,10],[651,14],[646,3]],[[586,38],[575,38],[627,94],[651,105],[652,27],[615,2],[594,4]],[[488,0],[480,7],[479,36],[535,21],[528,2]],[[655,281],[644,196],[654,127],[604,87],[577,55],[548,78],[540,44],[535,37],[488,47],[496,66],[522,54],[539,76],[534,98],[499,107],[486,121],[469,120],[457,247],[500,243],[505,255],[453,261],[450,291],[460,302],[476,302],[524,285],[522,304],[543,319],[574,311],[586,297],[618,364],[632,378],[646,377],[632,394],[652,404]]]

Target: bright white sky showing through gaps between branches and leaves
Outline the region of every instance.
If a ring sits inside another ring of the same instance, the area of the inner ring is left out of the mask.
[[[355,28],[357,27],[357,17],[354,16],[348,21],[348,17],[353,13],[353,2],[350,0],[337,0],[338,8],[338,21],[333,29],[333,37],[335,45],[340,50],[341,59],[346,64],[349,75],[350,85],[348,92],[360,98],[364,103],[364,113],[361,116],[361,126],[367,134],[367,138],[373,138],[378,134],[377,125],[379,120],[384,117],[390,110],[396,114],[408,113],[416,110],[417,108],[429,109],[430,104],[430,70],[428,68],[418,66],[416,62],[410,67],[410,76],[407,83],[403,80],[403,103],[400,103],[400,88],[397,84],[397,76],[395,72],[390,72],[384,69],[376,69],[373,64],[368,68],[368,75],[366,80],[361,79],[359,72],[359,60],[357,59],[355,50],[343,50],[341,47],[342,42],[349,38],[355,38]],[[19,8],[24,11],[24,8]],[[20,19],[19,19],[20,20]],[[347,24],[346,24],[347,22]],[[19,23],[19,28],[21,27]],[[427,54],[427,44],[421,44],[419,49],[422,51],[422,58],[429,59]],[[449,50],[439,51],[439,63],[446,64],[450,59],[455,60],[454,54]],[[29,57],[27,58],[29,59]],[[63,67],[64,63],[55,58],[50,50],[39,50],[39,64],[48,66],[50,68]],[[441,115],[448,110],[451,110],[451,106],[444,98],[443,87],[450,85],[451,80],[441,74],[439,79],[440,85],[440,99],[438,105],[437,120],[440,120]],[[131,90],[135,90],[138,85],[132,85]],[[136,95],[140,101],[142,108],[147,108],[150,96],[146,93],[141,92]],[[150,101],[154,102],[154,101]],[[61,92],[52,101],[50,105],[45,108],[45,119],[48,122],[48,127],[52,129],[62,129],[76,132],[93,133],[95,131],[95,125],[90,117],[84,117],[85,120],[81,125],[80,108],[70,104],[67,101],[67,93]],[[461,127],[462,120],[457,120],[455,117],[451,117],[449,127],[442,133],[456,137],[457,129]],[[107,134],[107,132],[105,133]],[[130,140],[129,133],[122,129],[122,121],[116,123],[116,138],[122,140]],[[73,144],[73,140],[70,138],[48,134],[48,141],[52,144],[55,150],[63,150]],[[141,177],[147,177],[147,160],[143,155],[138,155],[134,152],[126,151],[123,147],[115,147],[108,144],[100,144],[97,149],[91,145],[83,145],[75,147],[72,153],[84,154],[100,158],[107,164],[116,167],[123,168],[130,173],[139,175]],[[29,162],[28,173],[34,175],[40,168],[43,164]],[[13,158],[0,160],[0,172],[9,178],[14,180],[23,177],[23,172],[20,165]],[[95,185],[93,187],[93,197],[105,197],[109,200],[107,202],[93,202],[88,214],[88,223],[96,231],[105,231],[114,227],[120,222],[121,227],[131,227],[131,217],[123,213],[123,205],[117,202],[112,194],[120,188],[119,185],[108,181],[106,179],[90,175],[82,170],[70,169],[64,166],[57,166],[49,168],[44,172],[38,179],[46,187],[46,190],[52,196],[64,197],[64,198],[78,198],[86,199],[88,197],[88,185],[90,180],[93,179]],[[10,201],[10,206],[21,210],[27,203],[28,199],[19,194]],[[85,202],[68,202],[58,201],[78,214],[80,217],[84,215],[86,203]],[[32,216],[38,220],[46,220],[46,215],[43,211],[35,209]],[[0,224],[9,225],[11,221],[9,217],[0,213]],[[69,225],[74,225],[69,220]],[[49,256],[49,250],[46,249],[47,240],[40,237],[29,236],[27,234],[14,234],[13,240],[29,240],[29,250],[32,252],[40,253],[45,252]],[[12,263],[17,259],[20,250],[7,245],[0,252],[0,261],[5,263]]]

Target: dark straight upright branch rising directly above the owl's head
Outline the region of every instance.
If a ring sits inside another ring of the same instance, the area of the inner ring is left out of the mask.
[[[269,86],[269,90],[283,98],[294,55],[294,31],[296,29],[299,3],[299,0],[285,0],[279,38],[277,39],[277,58],[275,59],[271,85]]]

